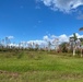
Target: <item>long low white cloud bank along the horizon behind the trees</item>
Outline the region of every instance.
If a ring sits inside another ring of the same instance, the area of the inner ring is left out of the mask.
[[[83,35],[80,35],[79,33],[75,33],[75,35],[78,36],[78,38],[83,38]],[[66,34],[62,34],[62,35],[59,35],[59,36],[56,36],[56,35],[45,35],[43,37],[43,39],[36,39],[36,40],[27,40],[27,42],[21,42],[22,44],[19,45],[19,44],[9,44],[10,46],[15,46],[15,47],[26,47],[27,45],[33,45],[33,43],[36,45],[38,44],[40,47],[43,46],[47,46],[48,45],[48,42],[50,42],[52,45],[59,45],[63,42],[69,42],[69,37],[72,37],[72,35],[66,35]],[[9,38],[13,38],[13,36],[9,36]]]

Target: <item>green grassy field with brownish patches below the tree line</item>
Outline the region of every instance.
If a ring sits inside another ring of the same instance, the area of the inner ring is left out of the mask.
[[[0,52],[0,82],[83,82],[83,58],[46,51]]]

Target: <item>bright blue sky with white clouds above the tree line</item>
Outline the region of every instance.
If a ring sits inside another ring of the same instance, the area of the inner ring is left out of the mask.
[[[0,0],[0,39],[12,42],[68,37],[83,32],[83,0]]]

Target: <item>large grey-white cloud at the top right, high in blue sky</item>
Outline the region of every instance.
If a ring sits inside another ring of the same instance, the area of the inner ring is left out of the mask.
[[[80,5],[83,5],[83,0],[40,0],[45,5],[50,7],[52,10],[62,12],[70,12]]]

